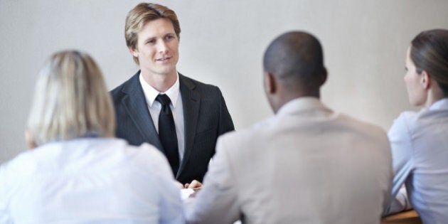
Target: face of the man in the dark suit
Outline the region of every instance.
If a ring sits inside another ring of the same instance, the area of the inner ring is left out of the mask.
[[[178,37],[168,18],[157,18],[146,23],[138,33],[137,48],[129,48],[139,58],[142,73],[174,75],[178,55]]]

